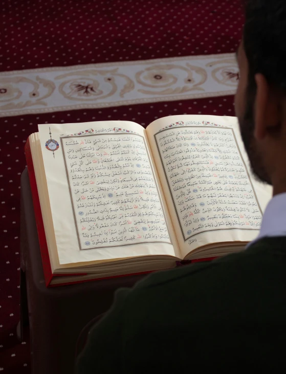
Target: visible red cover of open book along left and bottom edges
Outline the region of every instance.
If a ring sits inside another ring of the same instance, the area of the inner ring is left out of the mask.
[[[52,268],[51,268],[51,262],[50,262],[50,255],[48,250],[48,244],[46,239],[46,233],[45,233],[45,227],[43,226],[43,220],[42,220],[42,214],[41,214],[41,206],[40,206],[40,200],[39,200],[39,194],[38,194],[38,188],[37,188],[37,182],[35,177],[35,170],[33,165],[33,159],[31,154],[31,147],[29,138],[27,139],[27,142],[25,144],[25,155],[27,160],[27,168],[28,168],[28,174],[29,174],[29,180],[30,180],[30,186],[31,186],[31,192],[32,192],[32,198],[33,198],[33,206],[34,206],[34,213],[35,213],[35,219],[36,219],[36,225],[37,225],[37,231],[38,231],[38,239],[39,239],[39,245],[40,245],[40,251],[41,251],[41,258],[42,258],[42,267],[43,267],[43,274],[45,276],[45,282],[47,287],[56,287],[56,286],[64,286],[64,285],[71,285],[75,283],[83,283],[83,282],[90,282],[95,281],[95,279],[84,279],[80,281],[73,281],[69,283],[61,283],[57,285],[51,285],[52,278],[54,276],[65,276],[65,275],[87,275],[87,273],[81,273],[81,274],[53,274]],[[215,259],[208,258],[208,259],[201,259],[201,260],[192,260],[192,261],[182,261],[177,262],[177,266],[180,266],[180,263],[182,265],[187,265],[189,263],[195,263],[195,262],[202,262],[202,261],[212,261]],[[111,278],[118,278],[123,276],[131,276],[131,275],[138,275],[138,274],[148,274],[152,271],[144,271],[140,273],[132,273],[132,274],[124,274],[124,275],[116,275],[116,276],[109,276],[105,278],[97,278],[97,281],[100,281],[101,279],[111,279]]]

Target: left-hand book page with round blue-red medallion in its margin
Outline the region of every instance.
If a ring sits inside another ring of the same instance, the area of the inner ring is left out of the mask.
[[[119,121],[39,125],[60,264],[179,255],[144,131]]]

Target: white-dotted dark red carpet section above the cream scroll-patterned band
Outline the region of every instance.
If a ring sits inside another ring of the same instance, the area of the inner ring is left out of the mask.
[[[229,53],[243,25],[240,0],[7,0],[0,18],[4,71]]]

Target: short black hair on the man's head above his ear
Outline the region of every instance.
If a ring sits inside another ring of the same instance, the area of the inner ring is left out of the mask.
[[[254,83],[255,74],[261,73],[271,86],[284,91],[286,0],[248,0],[244,3],[243,41],[249,65],[249,84]]]

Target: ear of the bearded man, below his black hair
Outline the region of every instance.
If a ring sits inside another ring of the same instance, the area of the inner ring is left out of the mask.
[[[271,93],[270,86],[262,74],[255,75],[256,99],[255,99],[255,128],[254,136],[257,140],[263,140],[270,127],[277,125],[277,98]]]

